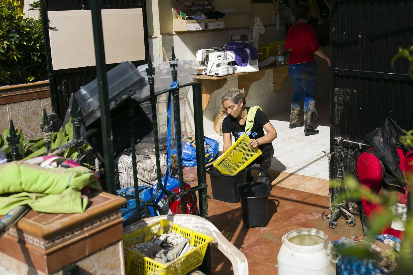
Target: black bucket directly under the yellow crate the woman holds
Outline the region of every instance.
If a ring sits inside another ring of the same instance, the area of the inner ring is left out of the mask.
[[[212,197],[214,200],[230,203],[240,202],[236,187],[238,184],[247,181],[247,174],[241,171],[238,173],[243,173],[240,176],[225,175],[221,174],[214,166],[207,167],[207,173],[211,175]]]

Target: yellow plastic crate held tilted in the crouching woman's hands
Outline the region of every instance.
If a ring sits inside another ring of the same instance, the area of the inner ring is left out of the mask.
[[[235,143],[214,163],[214,167],[225,175],[238,174],[262,152],[258,148],[249,148],[249,137],[243,134]]]

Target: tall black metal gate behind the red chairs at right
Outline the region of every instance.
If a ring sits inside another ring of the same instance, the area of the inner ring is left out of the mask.
[[[385,118],[413,129],[408,61],[391,67],[399,47],[413,45],[412,14],[410,0],[332,0],[331,152],[337,151],[330,162],[332,179],[354,173],[364,136]],[[356,149],[354,155],[341,154]],[[332,201],[340,190],[330,188]],[[355,199],[348,207],[360,211]]]

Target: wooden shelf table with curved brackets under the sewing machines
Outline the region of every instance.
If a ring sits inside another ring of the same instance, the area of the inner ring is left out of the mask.
[[[227,79],[238,78],[238,86],[245,89],[247,96],[252,83],[263,78],[267,70],[273,70],[274,92],[278,92],[288,75],[288,65],[267,66],[260,68],[257,72],[233,73],[232,75],[225,76],[196,75],[195,80],[202,83],[202,110],[207,108],[211,94],[216,90],[221,89],[225,85]]]

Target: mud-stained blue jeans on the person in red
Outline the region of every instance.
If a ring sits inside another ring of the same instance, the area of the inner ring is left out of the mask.
[[[291,108],[300,110],[304,104],[304,112],[316,111],[317,64],[300,63],[288,65],[288,74],[294,85],[295,94]]]

